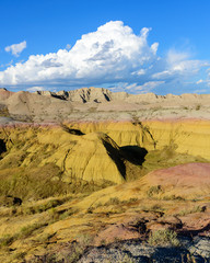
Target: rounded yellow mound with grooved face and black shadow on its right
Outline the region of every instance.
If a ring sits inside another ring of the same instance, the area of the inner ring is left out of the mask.
[[[125,181],[124,162],[120,160],[118,146],[105,134],[91,133],[74,136],[55,129],[38,137],[43,142],[54,141],[54,138],[56,138],[55,144],[61,145],[40,164],[55,162],[66,172],[65,181],[70,181],[71,178],[93,182],[105,180],[121,183]]]

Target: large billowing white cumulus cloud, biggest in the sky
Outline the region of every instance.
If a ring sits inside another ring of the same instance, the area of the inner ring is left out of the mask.
[[[158,44],[150,46],[150,28],[133,34],[121,21],[108,22],[85,34],[70,49],[30,56],[0,72],[1,84],[92,84],[130,79],[155,59]]]

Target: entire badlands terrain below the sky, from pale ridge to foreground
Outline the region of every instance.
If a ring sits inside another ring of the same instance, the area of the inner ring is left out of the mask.
[[[0,90],[0,262],[210,262],[209,95]]]

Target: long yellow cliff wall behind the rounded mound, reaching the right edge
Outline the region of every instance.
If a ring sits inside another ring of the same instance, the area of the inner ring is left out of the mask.
[[[162,149],[171,144],[179,153],[210,160],[210,121],[165,119],[121,123],[78,123],[83,133],[103,132],[118,146],[138,145],[147,150]]]

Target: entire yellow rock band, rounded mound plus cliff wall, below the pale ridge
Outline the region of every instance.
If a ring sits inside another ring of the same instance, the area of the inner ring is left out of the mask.
[[[14,167],[15,162],[18,167],[55,163],[66,182],[74,178],[121,183],[126,179],[126,163],[119,149],[122,146],[140,146],[150,151],[173,145],[178,153],[210,160],[209,121],[90,122],[68,126],[84,135],[67,133],[59,126],[1,128],[0,138],[10,150],[0,160],[0,167],[8,168],[10,163]]]

